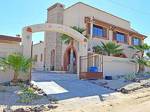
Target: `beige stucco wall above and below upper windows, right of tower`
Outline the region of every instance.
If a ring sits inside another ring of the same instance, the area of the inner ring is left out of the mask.
[[[101,20],[121,28],[125,28],[130,30],[130,23],[124,19],[108,14],[107,12],[92,8],[83,3],[77,3],[76,5],[65,9],[64,11],[64,25],[68,26],[79,26],[81,28],[86,28],[85,17],[93,17],[97,20]],[[88,48],[92,49],[95,45],[100,45],[101,41],[108,42],[112,41],[113,34],[111,31],[108,33],[109,39],[100,39],[100,38],[92,38],[88,41]],[[124,49],[124,53],[127,57],[131,58],[134,54],[133,50],[129,49],[128,44],[119,43]]]

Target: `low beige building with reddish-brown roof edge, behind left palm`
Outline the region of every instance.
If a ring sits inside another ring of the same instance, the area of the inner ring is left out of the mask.
[[[20,53],[21,52],[21,38],[0,35],[0,58],[6,57],[12,53]],[[0,68],[0,82],[5,82],[11,80],[13,78],[12,71],[2,71]]]

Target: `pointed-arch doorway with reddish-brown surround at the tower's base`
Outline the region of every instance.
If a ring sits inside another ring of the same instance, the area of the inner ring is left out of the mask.
[[[73,45],[68,46],[64,53],[63,67],[65,71],[77,72],[77,51]]]

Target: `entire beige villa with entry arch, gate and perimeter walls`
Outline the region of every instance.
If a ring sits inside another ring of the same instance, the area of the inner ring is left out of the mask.
[[[79,33],[72,27],[84,29]],[[44,41],[32,44],[32,33],[44,32]],[[72,38],[66,44],[63,35]],[[136,73],[138,64],[131,62],[136,52],[129,48],[142,45],[145,35],[131,28],[129,21],[114,16],[82,2],[68,8],[56,3],[47,9],[47,21],[43,24],[25,26],[21,37],[0,35],[0,57],[13,52],[33,58],[33,70],[65,71],[77,73],[80,79],[103,78]],[[121,45],[119,56],[96,54],[94,46],[101,42],[114,42]],[[91,68],[96,72],[90,72]],[[149,71],[149,69],[145,69]],[[12,73],[0,71],[0,82],[9,81]]]

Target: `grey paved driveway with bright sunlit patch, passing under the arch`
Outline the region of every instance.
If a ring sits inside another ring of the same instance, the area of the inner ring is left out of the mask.
[[[48,95],[59,100],[101,96],[113,91],[86,80],[79,80],[76,74],[32,73],[32,81]]]

